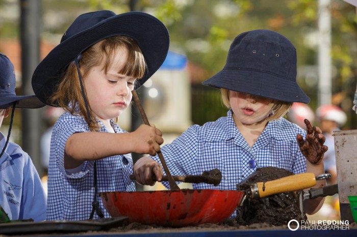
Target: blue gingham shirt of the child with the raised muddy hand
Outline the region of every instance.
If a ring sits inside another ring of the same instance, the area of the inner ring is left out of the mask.
[[[306,159],[301,154],[296,135],[304,138],[306,131],[285,120],[269,122],[252,147],[235,125],[232,110],[226,117],[203,126],[193,125],[172,143],[161,148],[172,175],[201,175],[203,171],[219,169],[222,181],[218,186],[193,184],[194,189],[236,190],[236,185],[259,167],[278,167],[293,173],[306,171]],[[158,156],[153,157],[160,162]],[[256,167],[249,163],[254,161]],[[167,182],[163,182],[169,187]]]

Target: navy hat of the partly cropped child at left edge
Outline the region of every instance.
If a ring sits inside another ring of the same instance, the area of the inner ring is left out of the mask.
[[[35,95],[16,96],[15,70],[9,58],[0,53],[0,109],[12,107],[16,101],[16,108],[41,108],[45,106]]]

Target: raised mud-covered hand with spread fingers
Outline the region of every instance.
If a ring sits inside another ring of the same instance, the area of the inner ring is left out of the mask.
[[[325,136],[322,135],[321,129],[312,126],[309,120],[305,119],[304,123],[307,130],[306,139],[304,140],[301,134],[298,134],[296,140],[302,155],[306,157],[310,163],[317,164],[327,151],[327,146],[323,144],[325,142]]]

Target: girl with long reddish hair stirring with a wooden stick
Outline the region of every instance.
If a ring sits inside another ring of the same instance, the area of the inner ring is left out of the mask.
[[[147,125],[127,133],[117,117],[130,105],[131,91],[160,68],[168,48],[167,28],[154,16],[104,10],[77,17],[38,65],[35,94],[66,110],[52,133],[47,220],[108,218],[98,193],[135,191],[130,153],[156,154],[162,134]]]

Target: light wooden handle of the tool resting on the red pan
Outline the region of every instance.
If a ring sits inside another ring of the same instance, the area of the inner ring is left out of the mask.
[[[316,185],[314,173],[299,173],[281,179],[257,183],[259,197],[311,188]]]

